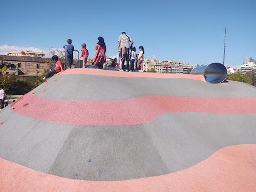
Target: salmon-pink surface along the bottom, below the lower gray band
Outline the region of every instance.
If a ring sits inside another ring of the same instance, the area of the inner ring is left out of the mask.
[[[228,146],[191,168],[162,176],[126,181],[83,181],[61,178],[0,158],[0,190],[255,191],[255,151],[256,145]]]

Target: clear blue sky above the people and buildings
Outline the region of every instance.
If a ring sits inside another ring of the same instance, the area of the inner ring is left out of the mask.
[[[122,31],[144,46],[145,58],[196,65],[237,67],[243,57],[256,59],[256,1],[1,1],[0,54],[62,48],[71,38],[75,49],[87,43],[89,57],[102,36],[106,55],[117,55]],[[226,65],[226,66],[227,66]]]

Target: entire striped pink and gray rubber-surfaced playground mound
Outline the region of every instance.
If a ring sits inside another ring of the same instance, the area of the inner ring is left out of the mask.
[[[256,89],[74,68],[0,112],[3,191],[256,189]]]

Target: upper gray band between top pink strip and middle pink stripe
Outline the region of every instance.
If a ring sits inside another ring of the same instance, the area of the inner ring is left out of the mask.
[[[53,82],[53,80],[57,80]],[[42,91],[45,90],[45,93]],[[145,95],[176,97],[255,97],[256,89],[240,82],[212,84],[186,78],[135,78],[55,75],[32,91],[55,100],[120,100]]]

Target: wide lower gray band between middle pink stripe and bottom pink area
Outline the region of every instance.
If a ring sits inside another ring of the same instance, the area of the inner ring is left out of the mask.
[[[9,109],[0,115],[1,158],[72,179],[168,174],[200,163],[222,147],[256,144],[256,114],[168,113],[132,126],[54,124]]]

